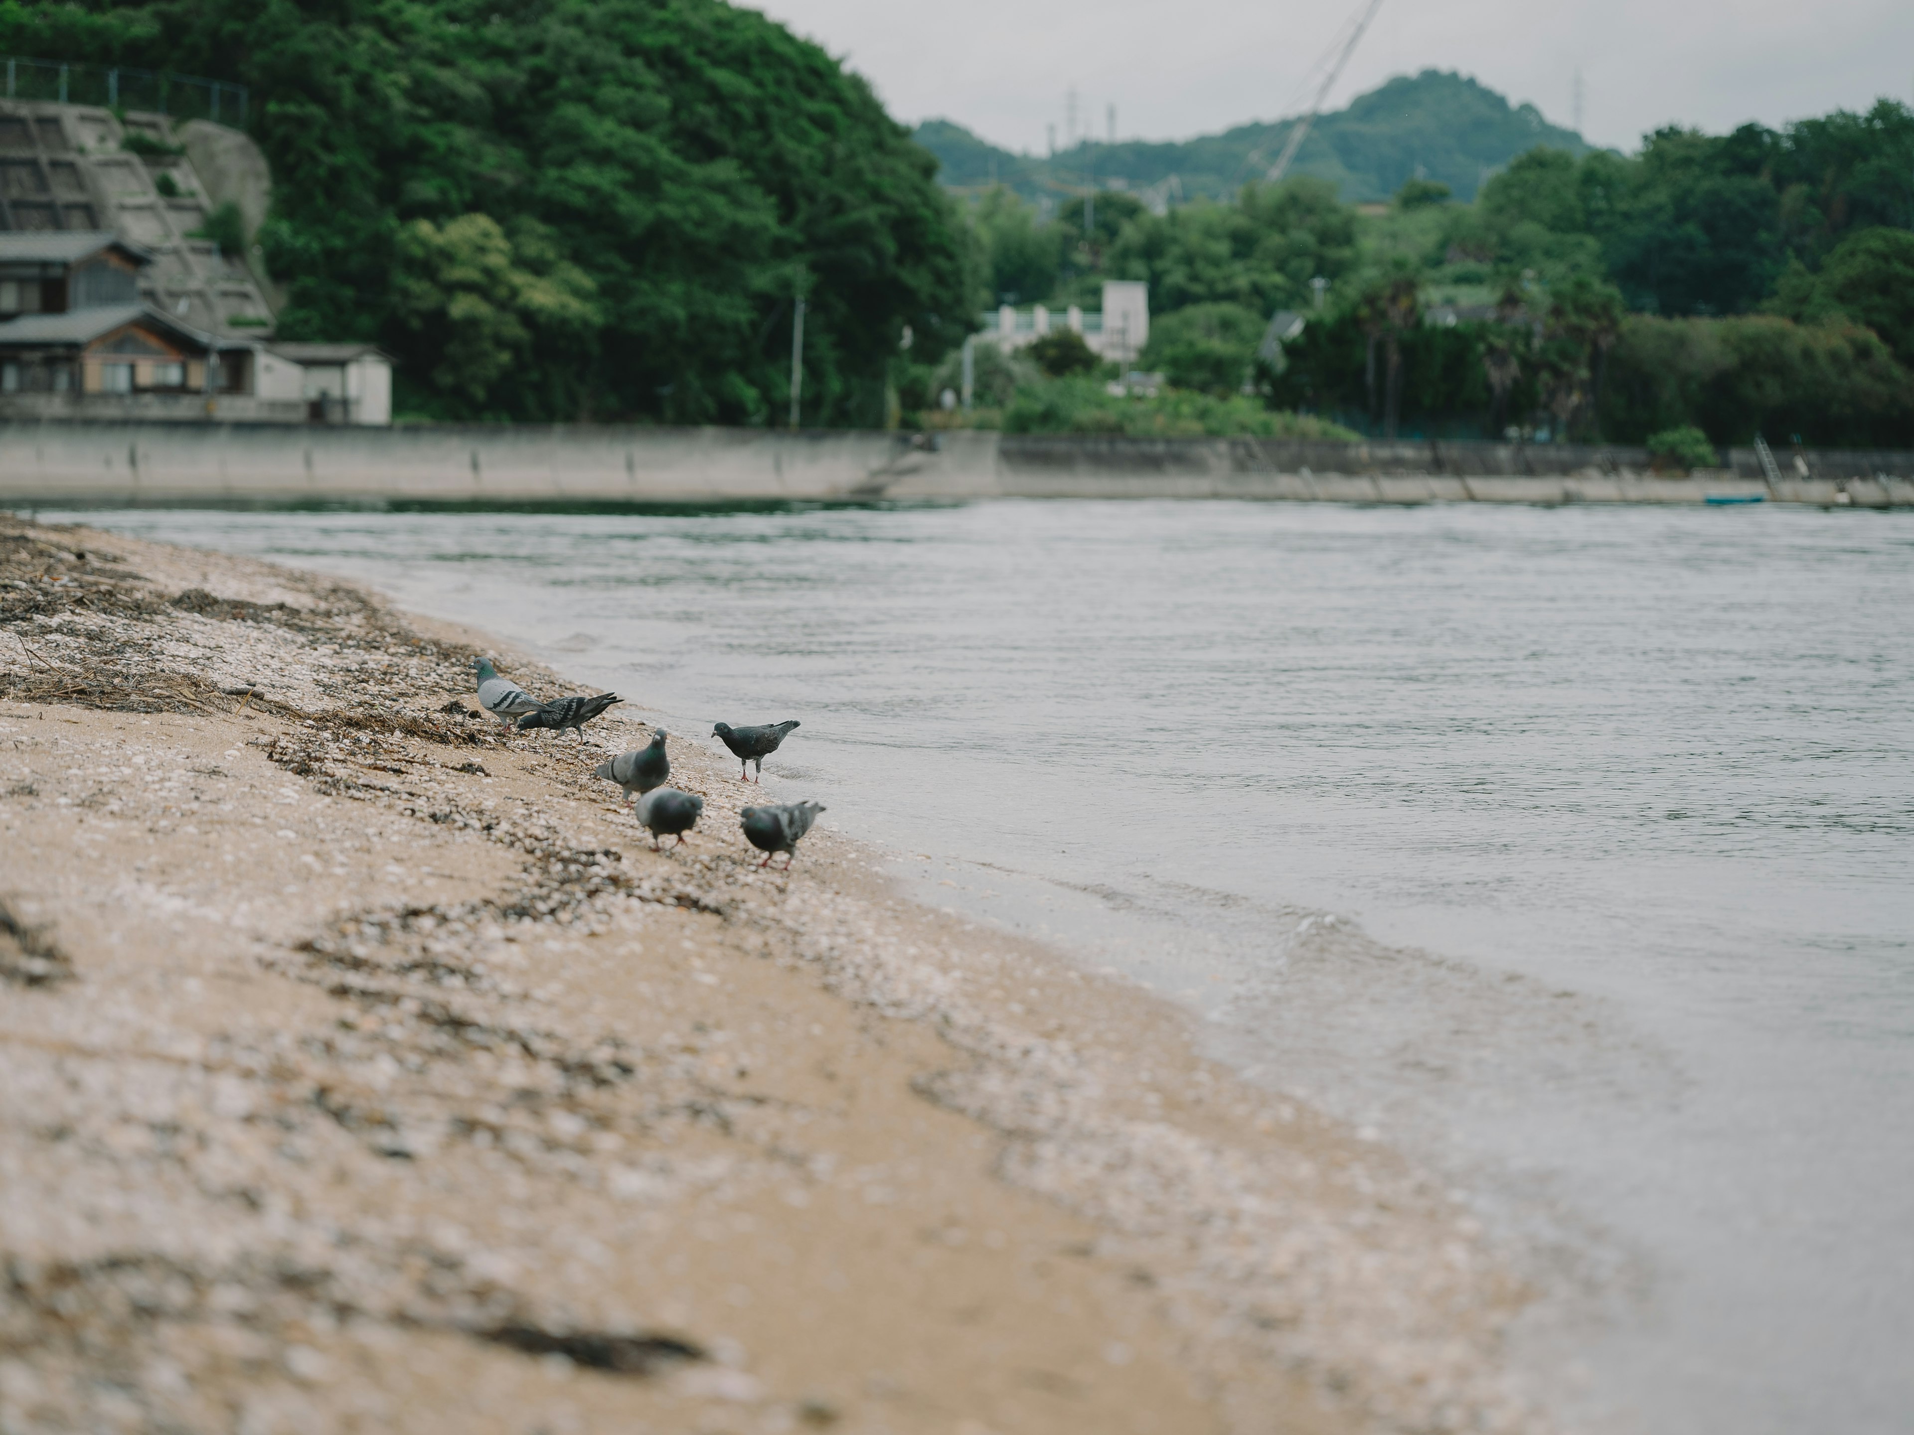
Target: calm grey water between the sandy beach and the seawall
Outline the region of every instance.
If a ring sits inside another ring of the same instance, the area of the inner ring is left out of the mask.
[[[1914,1420],[1914,515],[84,517],[800,718],[768,790],[1436,1163],[1591,1425]]]

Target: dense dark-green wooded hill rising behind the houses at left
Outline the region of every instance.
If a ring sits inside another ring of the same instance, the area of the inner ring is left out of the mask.
[[[251,86],[281,337],[377,339],[436,417],[884,421],[974,304],[936,163],[718,0],[0,6],[0,52]]]

